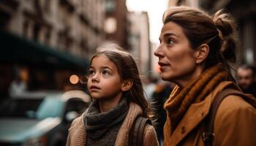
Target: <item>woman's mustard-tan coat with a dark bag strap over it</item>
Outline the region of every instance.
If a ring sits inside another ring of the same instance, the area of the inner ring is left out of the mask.
[[[203,118],[208,115],[217,93],[232,82],[222,82],[204,101],[192,104],[171,136],[165,135],[165,145],[204,145],[201,135]],[[256,90],[256,89],[255,89]],[[252,97],[253,98],[253,97]],[[256,100],[254,100],[256,103]],[[165,123],[165,126],[169,123]],[[214,145],[256,145],[256,110],[239,96],[223,99],[214,120]]]

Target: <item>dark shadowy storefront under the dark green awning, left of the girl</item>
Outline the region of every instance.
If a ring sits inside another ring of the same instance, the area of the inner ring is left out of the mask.
[[[12,80],[21,74],[28,90],[65,90],[83,88],[70,82],[76,74],[84,77],[89,61],[71,53],[0,32],[0,95],[6,96]]]

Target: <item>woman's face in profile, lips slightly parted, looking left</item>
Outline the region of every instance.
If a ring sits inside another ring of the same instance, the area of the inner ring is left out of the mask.
[[[181,26],[173,22],[165,23],[159,37],[160,45],[154,52],[163,80],[181,83],[195,74],[195,51],[189,45]]]

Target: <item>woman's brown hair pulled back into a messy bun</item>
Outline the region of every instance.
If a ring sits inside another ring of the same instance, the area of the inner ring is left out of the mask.
[[[209,46],[205,68],[221,62],[230,72],[228,62],[236,62],[236,28],[230,15],[221,9],[211,17],[200,9],[179,6],[167,9],[162,21],[181,26],[192,49],[202,44]]]

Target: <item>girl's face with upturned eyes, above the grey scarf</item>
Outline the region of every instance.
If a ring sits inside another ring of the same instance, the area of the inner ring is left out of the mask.
[[[105,55],[98,55],[91,61],[88,90],[93,99],[122,96],[122,81],[118,69]]]

